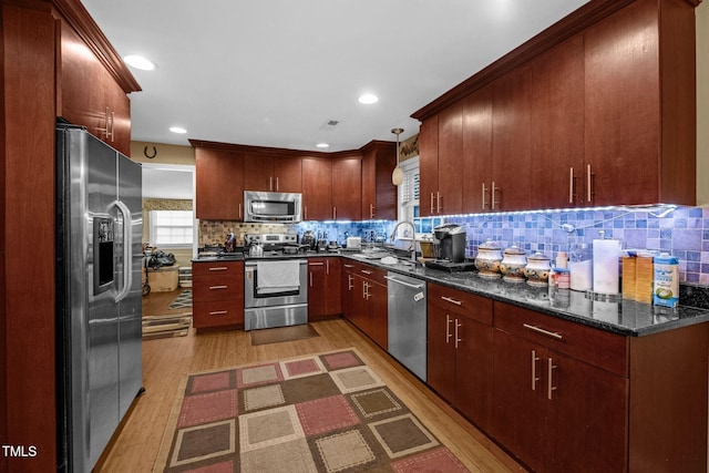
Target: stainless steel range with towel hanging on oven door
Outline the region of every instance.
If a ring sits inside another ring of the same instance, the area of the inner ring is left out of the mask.
[[[297,236],[247,235],[246,241],[261,250],[246,255],[245,330],[307,323],[308,261],[300,254]]]

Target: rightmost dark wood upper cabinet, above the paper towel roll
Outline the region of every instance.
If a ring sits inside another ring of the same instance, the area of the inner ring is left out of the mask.
[[[693,205],[693,9],[636,1],[584,40],[586,202]]]

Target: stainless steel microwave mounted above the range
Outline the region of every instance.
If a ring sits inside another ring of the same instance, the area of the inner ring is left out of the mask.
[[[302,194],[244,191],[244,222],[295,224],[302,218]]]

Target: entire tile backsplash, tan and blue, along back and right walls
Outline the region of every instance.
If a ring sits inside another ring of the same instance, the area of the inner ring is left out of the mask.
[[[576,243],[592,243],[604,232],[625,249],[667,251],[679,258],[680,280],[709,286],[709,207],[613,207],[475,214],[435,218],[417,218],[417,232],[430,233],[442,223],[463,226],[467,234],[466,255],[474,257],[477,246],[487,239],[504,248],[516,245],[527,253],[542,251],[554,259]],[[388,240],[395,222],[306,222],[297,225],[258,225],[238,222],[203,220],[199,245],[224,243],[229,230],[245,233],[327,233],[327,240],[345,243],[348,236],[362,241]],[[325,238],[325,236],[323,236]]]

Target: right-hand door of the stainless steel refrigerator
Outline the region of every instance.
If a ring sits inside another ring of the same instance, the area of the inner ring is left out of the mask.
[[[116,245],[119,268],[119,419],[123,419],[143,387],[142,321],[143,261],[142,168],[119,154],[119,226],[122,238]],[[123,209],[123,210],[121,210]],[[126,212],[127,210],[127,212]],[[130,226],[130,228],[127,227]],[[125,251],[124,245],[130,245]],[[125,258],[129,258],[127,260]],[[124,277],[124,271],[125,276]],[[127,289],[125,288],[125,285]]]

